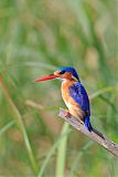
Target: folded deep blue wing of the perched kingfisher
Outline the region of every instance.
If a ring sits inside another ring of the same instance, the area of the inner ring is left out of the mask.
[[[74,101],[81,105],[82,110],[87,113],[87,116],[90,116],[89,100],[84,86],[79,82],[76,82],[68,90]]]

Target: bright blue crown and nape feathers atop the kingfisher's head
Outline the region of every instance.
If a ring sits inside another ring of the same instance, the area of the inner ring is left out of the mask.
[[[58,70],[65,71],[65,72],[72,72],[73,76],[75,76],[79,81],[78,74],[74,67],[63,66],[63,67],[58,67]]]

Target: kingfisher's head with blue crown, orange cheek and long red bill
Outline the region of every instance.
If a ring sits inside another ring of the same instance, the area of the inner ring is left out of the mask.
[[[35,80],[35,82],[46,81],[46,80],[53,80],[53,79],[62,79],[62,80],[69,80],[69,81],[78,81],[79,77],[74,67],[58,67],[57,71],[55,71],[53,74],[40,77]]]

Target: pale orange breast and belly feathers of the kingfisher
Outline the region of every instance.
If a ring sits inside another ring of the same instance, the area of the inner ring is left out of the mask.
[[[62,97],[69,111],[69,113],[76,117],[77,119],[84,122],[84,111],[81,105],[74,101],[74,98],[69,94],[68,87],[72,86],[74,81],[64,81],[62,82]]]

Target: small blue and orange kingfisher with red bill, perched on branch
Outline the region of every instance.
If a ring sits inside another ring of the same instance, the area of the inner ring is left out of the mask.
[[[35,82],[61,79],[62,81],[62,97],[68,108],[66,111],[67,117],[73,115],[77,118],[85,127],[92,132],[93,127],[90,124],[90,106],[88,94],[81,83],[79,76],[74,67],[64,66],[58,67],[54,74],[40,77]]]

